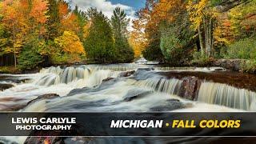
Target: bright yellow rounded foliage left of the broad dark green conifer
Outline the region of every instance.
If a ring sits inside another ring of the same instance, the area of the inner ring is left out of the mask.
[[[62,36],[55,38],[54,42],[60,46],[61,50],[69,54],[85,54],[82,42],[74,32],[64,31]]]

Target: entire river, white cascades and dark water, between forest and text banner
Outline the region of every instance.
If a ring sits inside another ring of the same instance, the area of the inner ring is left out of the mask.
[[[52,66],[1,74],[0,110],[21,112],[256,111],[256,77],[221,68]],[[31,100],[43,94],[60,97]],[[30,102],[30,104],[27,104]],[[17,139],[18,142],[24,138]]]

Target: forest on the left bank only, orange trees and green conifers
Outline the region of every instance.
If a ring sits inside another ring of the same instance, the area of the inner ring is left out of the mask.
[[[5,0],[0,3],[0,65],[32,69],[38,65],[132,62],[126,13],[116,8],[74,10],[56,0]]]

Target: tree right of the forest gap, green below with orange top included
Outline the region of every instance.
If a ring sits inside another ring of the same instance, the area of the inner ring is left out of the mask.
[[[162,17],[160,21],[162,54],[168,63],[186,64],[195,43],[194,32],[190,30],[190,21],[186,12],[186,2],[160,2],[162,3],[159,3],[156,10]]]

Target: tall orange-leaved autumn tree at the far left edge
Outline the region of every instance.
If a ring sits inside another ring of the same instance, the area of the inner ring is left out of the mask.
[[[10,0],[2,2],[2,22],[12,35],[7,52],[14,54],[14,66],[17,65],[17,55],[22,50],[26,35],[31,33],[42,34],[43,24],[46,22],[47,2],[45,0]]]

